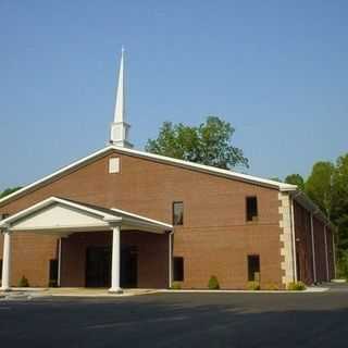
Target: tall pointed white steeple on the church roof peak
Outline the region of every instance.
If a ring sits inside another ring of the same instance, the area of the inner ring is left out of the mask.
[[[121,63],[119,72],[119,85],[116,94],[116,104],[114,120],[111,124],[110,142],[124,148],[133,148],[128,141],[128,133],[130,125],[126,123],[125,110],[125,84],[124,84],[124,48],[122,47]]]

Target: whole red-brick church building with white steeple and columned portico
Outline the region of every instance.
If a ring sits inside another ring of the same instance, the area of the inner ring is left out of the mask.
[[[333,226],[294,185],[133,149],[122,54],[110,146],[0,200],[1,288],[285,288],[335,274]]]

